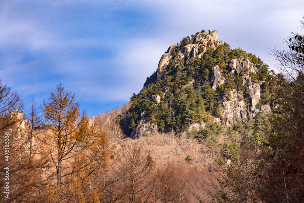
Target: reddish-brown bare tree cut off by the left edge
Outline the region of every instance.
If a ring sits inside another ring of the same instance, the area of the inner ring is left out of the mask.
[[[0,146],[3,149],[0,152],[3,160],[0,166],[0,176],[3,177],[0,181],[2,194],[0,202],[35,202],[36,200],[32,194],[35,193],[37,166],[29,162],[25,153],[28,139],[23,110],[23,101],[19,94],[13,92],[0,80]],[[5,177],[7,170],[9,176]],[[6,182],[9,183],[9,194],[4,193]]]

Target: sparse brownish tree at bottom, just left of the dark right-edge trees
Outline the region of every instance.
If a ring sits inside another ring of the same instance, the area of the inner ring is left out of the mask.
[[[219,187],[216,187],[213,194],[218,202],[261,202],[257,194],[257,172],[260,164],[258,156],[259,152],[254,144],[247,141],[240,149],[238,160],[229,159],[226,163],[219,164]]]

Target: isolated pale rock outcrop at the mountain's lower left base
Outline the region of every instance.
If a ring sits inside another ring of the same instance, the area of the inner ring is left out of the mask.
[[[138,125],[134,128],[134,130],[131,132],[131,138],[132,139],[138,139],[141,136],[143,136],[144,133],[147,134],[155,134],[158,132],[157,124],[147,122],[146,118],[140,119]]]

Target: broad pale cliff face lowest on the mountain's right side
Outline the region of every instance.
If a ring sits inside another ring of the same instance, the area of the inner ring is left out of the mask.
[[[242,118],[247,119],[246,103],[243,96],[237,93],[235,89],[230,91],[231,100],[223,102],[223,117],[227,117],[226,126],[240,121]]]

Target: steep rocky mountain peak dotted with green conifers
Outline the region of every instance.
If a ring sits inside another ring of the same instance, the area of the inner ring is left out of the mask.
[[[157,131],[186,133],[208,123],[224,127],[270,113],[273,72],[260,58],[231,49],[216,30],[195,33],[171,45],[147,77],[123,126],[131,138]]]

